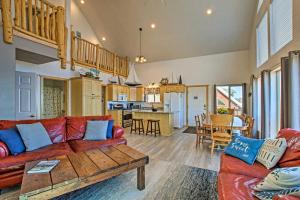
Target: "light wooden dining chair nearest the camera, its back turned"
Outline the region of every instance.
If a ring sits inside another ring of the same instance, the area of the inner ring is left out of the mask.
[[[211,115],[211,155],[214,153],[216,146],[226,147],[232,139],[232,124],[233,115],[222,114],[222,115]]]

